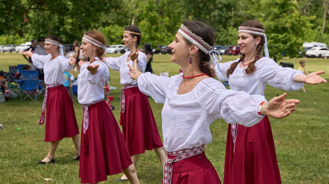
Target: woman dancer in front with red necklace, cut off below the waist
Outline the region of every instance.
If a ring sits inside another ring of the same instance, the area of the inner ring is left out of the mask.
[[[139,89],[157,103],[164,103],[162,130],[168,156],[164,184],[220,183],[204,153],[204,145],[212,140],[209,126],[215,119],[253,126],[264,115],[289,115],[299,102],[285,100],[283,94],[267,103],[261,95],[227,90],[213,78],[208,55],[213,44],[212,28],[202,22],[186,22],[169,44],[171,62],[180,65],[182,73],[167,78],[140,72],[136,60],[130,66],[130,75],[138,80]]]

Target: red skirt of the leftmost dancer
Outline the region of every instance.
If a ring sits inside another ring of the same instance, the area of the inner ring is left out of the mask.
[[[60,141],[79,134],[72,100],[64,85],[48,88],[45,142]]]

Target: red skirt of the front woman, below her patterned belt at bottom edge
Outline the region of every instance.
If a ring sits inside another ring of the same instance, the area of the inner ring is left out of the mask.
[[[174,159],[176,156],[168,155]],[[172,163],[171,184],[220,184],[220,179],[205,153]]]

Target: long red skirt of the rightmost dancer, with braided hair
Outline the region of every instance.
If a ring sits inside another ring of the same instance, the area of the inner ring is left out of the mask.
[[[235,150],[229,125],[224,184],[281,184],[273,135],[268,117],[253,127],[238,125]]]

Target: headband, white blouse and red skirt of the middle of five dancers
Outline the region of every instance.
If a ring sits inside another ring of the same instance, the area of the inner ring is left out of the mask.
[[[130,33],[127,30],[125,32]],[[123,85],[121,88],[120,125],[129,153],[133,156],[145,153],[145,150],[160,148],[163,144],[148,97],[140,92],[137,81],[132,80],[128,75],[128,64],[133,64],[132,60],[127,62],[130,54],[130,51],[127,51],[120,57],[106,57],[105,63],[111,69],[120,72],[120,83]],[[143,52],[138,52],[138,67],[142,72],[146,69],[146,55]]]

